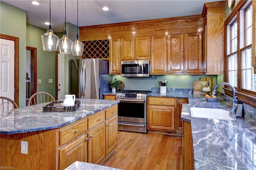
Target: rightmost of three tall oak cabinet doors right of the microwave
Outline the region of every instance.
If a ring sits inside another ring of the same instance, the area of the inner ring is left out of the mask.
[[[184,34],[185,73],[202,73],[202,33]]]

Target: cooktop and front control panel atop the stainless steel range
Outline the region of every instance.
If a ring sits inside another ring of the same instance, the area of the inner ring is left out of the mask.
[[[146,99],[147,94],[151,91],[147,90],[122,90],[120,92],[116,92],[116,98],[130,98],[130,99]]]

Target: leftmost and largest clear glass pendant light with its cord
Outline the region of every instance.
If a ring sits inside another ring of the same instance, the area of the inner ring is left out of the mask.
[[[50,0],[50,25],[47,33],[41,36],[44,51],[56,51],[59,37],[53,33],[51,25],[51,0]]]

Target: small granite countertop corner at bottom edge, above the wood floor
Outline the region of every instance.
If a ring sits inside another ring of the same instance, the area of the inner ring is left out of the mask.
[[[91,164],[87,162],[79,162],[76,161],[70,166],[68,166],[65,170],[121,170],[118,168],[112,168],[109,166],[102,166],[97,164]]]

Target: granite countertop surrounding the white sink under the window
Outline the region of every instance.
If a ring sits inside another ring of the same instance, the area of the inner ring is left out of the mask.
[[[190,107],[202,107],[191,98],[182,104],[182,121],[191,123],[195,170],[256,169],[256,121],[230,114],[231,120],[191,117]],[[208,102],[212,103],[212,102]],[[212,104],[216,108],[217,104]],[[210,106],[208,106],[210,108]],[[224,106],[231,107],[229,105]]]

